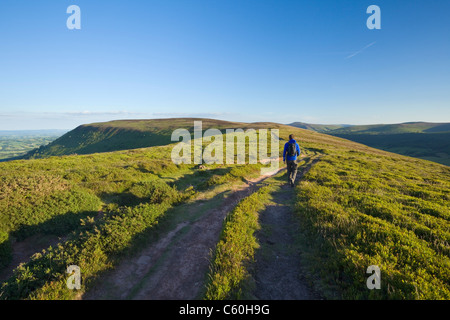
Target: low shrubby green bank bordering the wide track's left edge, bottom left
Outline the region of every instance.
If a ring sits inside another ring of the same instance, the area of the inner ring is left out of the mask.
[[[85,230],[56,248],[35,254],[19,266],[2,287],[4,299],[73,299],[78,292],[67,290],[65,270],[77,265],[83,275],[83,288],[89,287],[96,276],[114,265],[124,250],[139,241],[140,235],[154,227],[169,208],[169,203],[142,204],[108,212],[95,223],[84,222]]]

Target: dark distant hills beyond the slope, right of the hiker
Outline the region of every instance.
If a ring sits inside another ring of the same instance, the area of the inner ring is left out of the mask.
[[[291,126],[331,134],[389,152],[450,165],[450,123],[317,125],[294,122]]]

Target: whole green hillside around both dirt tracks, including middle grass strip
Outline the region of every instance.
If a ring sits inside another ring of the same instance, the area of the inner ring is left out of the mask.
[[[300,166],[310,170],[284,205],[295,212],[296,252],[322,296],[450,299],[448,167],[287,125],[202,120],[204,129],[278,128],[280,146],[296,134],[306,157]],[[39,154],[52,157],[0,163],[0,299],[79,299],[126,266],[130,254],[172,233],[183,237],[208,208],[223,205],[235,207],[225,212],[211,274],[200,278],[207,279],[208,299],[242,297],[254,251],[263,245],[258,214],[279,197],[284,173],[233,204],[224,195],[233,198],[261,165],[175,165],[173,145],[166,145],[171,130],[192,126],[193,119],[87,125]],[[141,140],[131,140],[138,134]],[[140,148],[149,142],[155,146]],[[120,150],[127,147],[137,149]],[[25,244],[33,254],[17,260]],[[69,265],[81,268],[79,291],[66,287]],[[366,287],[370,265],[381,269],[381,290]],[[130,292],[139,292],[137,283]]]

